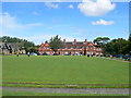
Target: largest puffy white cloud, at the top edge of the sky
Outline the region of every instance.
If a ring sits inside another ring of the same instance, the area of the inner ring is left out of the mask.
[[[96,2],[92,0],[84,0],[82,3],[78,4],[78,9],[86,16],[102,16],[112,11],[116,4],[111,3],[110,0],[97,0]]]

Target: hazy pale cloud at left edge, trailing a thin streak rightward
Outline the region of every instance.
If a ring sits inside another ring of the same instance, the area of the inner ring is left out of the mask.
[[[22,30],[28,30],[34,27],[39,27],[43,26],[44,24],[41,23],[27,23],[27,24],[22,24],[20,23],[19,19],[16,16],[10,15],[10,13],[0,13],[0,34],[2,36],[4,35],[19,35],[17,33]],[[26,34],[23,32],[23,34]]]

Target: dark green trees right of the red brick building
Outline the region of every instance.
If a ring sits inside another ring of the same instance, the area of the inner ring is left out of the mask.
[[[108,37],[97,37],[94,39],[94,44],[102,47],[104,54],[130,54],[131,56],[131,34],[129,39],[117,38],[111,39]]]

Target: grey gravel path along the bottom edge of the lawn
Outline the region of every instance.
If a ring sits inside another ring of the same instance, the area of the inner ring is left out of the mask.
[[[31,88],[31,87],[0,87],[2,90],[38,91],[60,94],[129,94],[129,88]]]

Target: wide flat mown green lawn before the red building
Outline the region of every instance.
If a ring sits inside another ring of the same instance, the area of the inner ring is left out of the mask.
[[[128,87],[129,63],[84,56],[3,56],[2,81],[3,86]]]

